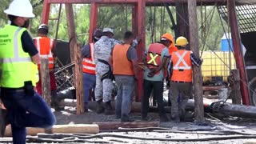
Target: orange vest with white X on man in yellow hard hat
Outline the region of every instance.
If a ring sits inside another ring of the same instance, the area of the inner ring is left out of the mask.
[[[173,72],[171,81],[192,82],[192,62],[190,50],[178,50],[171,55],[173,62]]]

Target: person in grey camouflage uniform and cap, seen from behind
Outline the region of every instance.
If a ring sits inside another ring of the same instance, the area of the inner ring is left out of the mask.
[[[134,39],[132,46],[138,45],[138,41],[141,39]],[[111,93],[113,86],[113,74],[111,66],[108,62],[110,53],[114,46],[121,43],[114,39],[114,30],[110,28],[104,28],[102,38],[95,42],[94,45],[94,61],[96,63],[96,86],[95,86],[95,99],[97,101],[98,114],[105,113],[106,115],[114,114],[111,106]],[[104,106],[102,105],[104,102]]]

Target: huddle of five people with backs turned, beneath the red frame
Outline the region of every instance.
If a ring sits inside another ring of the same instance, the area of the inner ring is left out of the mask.
[[[82,64],[84,80],[85,110],[88,110],[90,90],[94,89],[98,114],[115,114],[121,122],[133,122],[129,117],[130,106],[134,94],[135,81],[138,80],[138,56],[136,46],[141,36],[126,31],[123,41],[114,39],[114,30],[104,28],[95,30],[94,42],[82,47]],[[142,120],[147,117],[149,98],[157,99],[160,121],[167,122],[163,102],[164,79],[170,79],[171,119],[179,122],[185,114],[185,106],[192,94],[192,65],[200,66],[202,59],[197,58],[192,51],[186,50],[188,41],[179,37],[174,45],[171,34],[163,34],[160,42],[150,44],[143,58],[143,96]],[[168,74],[167,74],[168,71]],[[115,112],[112,109],[113,81],[118,86],[115,99]]]

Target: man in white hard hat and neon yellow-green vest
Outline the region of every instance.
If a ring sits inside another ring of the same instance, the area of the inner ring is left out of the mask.
[[[34,18],[29,0],[14,0],[4,10],[10,25],[0,29],[1,100],[6,110],[0,110],[0,136],[10,123],[13,143],[26,143],[26,127],[50,128],[56,122],[54,114],[42,97],[34,91],[38,81],[38,50],[24,28]]]

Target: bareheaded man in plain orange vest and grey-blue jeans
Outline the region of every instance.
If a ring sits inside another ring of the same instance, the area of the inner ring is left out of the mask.
[[[118,95],[115,102],[116,118],[121,118],[121,122],[133,122],[129,118],[131,98],[134,92],[134,80],[138,79],[138,58],[137,52],[131,46],[134,34],[126,31],[122,44],[117,44],[109,58],[113,67],[115,82],[118,85]]]

